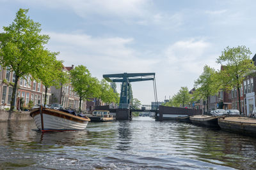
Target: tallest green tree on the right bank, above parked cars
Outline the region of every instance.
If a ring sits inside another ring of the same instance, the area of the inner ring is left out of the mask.
[[[238,100],[239,100],[239,111],[241,114],[241,99],[240,99],[240,88],[243,85],[245,76],[252,73],[256,67],[253,64],[250,55],[252,52],[246,46],[237,46],[224,49],[221,56],[217,59],[217,63],[225,66],[221,69],[218,74],[218,78],[221,85],[226,90],[232,90],[236,88],[238,90]]]

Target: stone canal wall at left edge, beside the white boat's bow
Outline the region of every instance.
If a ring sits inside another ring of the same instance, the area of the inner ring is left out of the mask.
[[[14,111],[10,113],[9,111],[0,111],[0,122],[8,121],[28,121],[32,120],[29,111]]]

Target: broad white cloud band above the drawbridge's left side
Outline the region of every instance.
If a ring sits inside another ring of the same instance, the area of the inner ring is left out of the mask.
[[[51,36],[49,48],[61,52],[60,59],[65,60],[66,66],[83,64],[99,78],[108,73],[147,72],[157,62],[155,59],[141,59],[142,54],[129,47],[134,41],[132,38],[44,33]]]

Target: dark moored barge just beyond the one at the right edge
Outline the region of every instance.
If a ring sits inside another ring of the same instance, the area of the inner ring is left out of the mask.
[[[195,115],[189,118],[192,124],[204,125],[206,127],[219,127],[218,118],[220,117],[212,117],[209,115]]]

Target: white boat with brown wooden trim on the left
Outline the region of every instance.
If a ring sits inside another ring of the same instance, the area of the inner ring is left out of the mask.
[[[30,116],[33,117],[36,127],[42,132],[84,130],[90,121],[88,117],[78,117],[48,108],[32,110]]]

